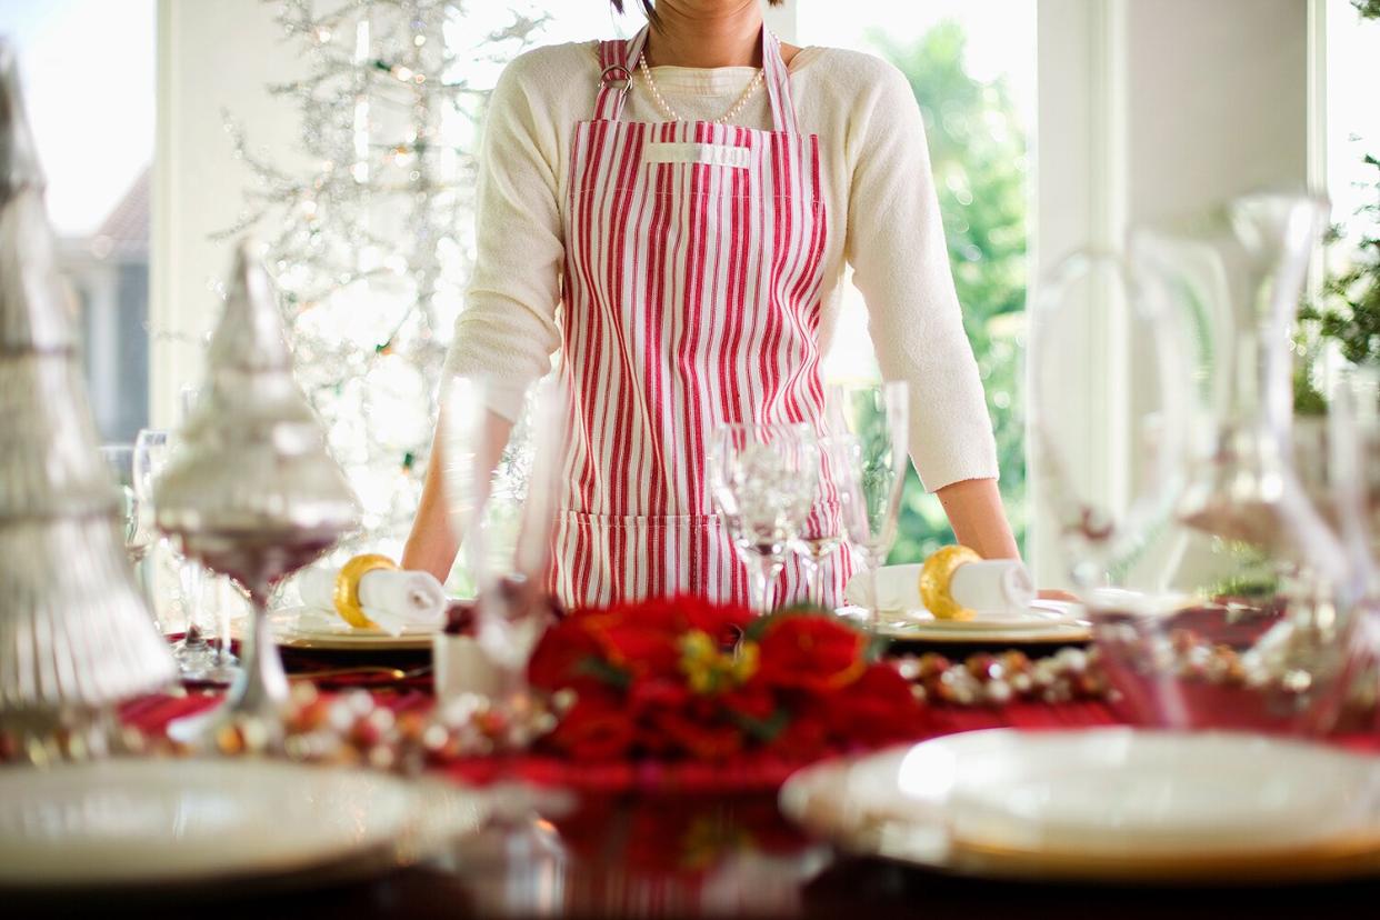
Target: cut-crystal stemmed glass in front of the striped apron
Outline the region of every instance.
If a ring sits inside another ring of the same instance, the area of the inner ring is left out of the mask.
[[[776,581],[818,490],[809,425],[720,425],[709,457],[719,516],[748,567],[752,606],[771,611]]]

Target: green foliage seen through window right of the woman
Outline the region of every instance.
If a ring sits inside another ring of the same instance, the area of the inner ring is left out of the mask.
[[[1002,498],[1024,543],[1025,131],[1005,83],[967,73],[958,23],[941,22],[912,43],[882,33],[871,41],[905,73],[925,116],[954,283],[996,432]],[[944,509],[912,469],[891,561],[918,561],[951,542]]]

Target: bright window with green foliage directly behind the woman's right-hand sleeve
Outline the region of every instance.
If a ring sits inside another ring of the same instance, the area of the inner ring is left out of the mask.
[[[878,54],[911,81],[925,116],[949,263],[987,389],[1002,497],[1025,534],[1021,349],[1025,305],[1027,126],[1035,79],[1035,4],[1003,0],[799,0],[796,44]],[[876,374],[861,297],[849,288],[827,372]],[[954,542],[944,509],[911,470],[891,561]]]

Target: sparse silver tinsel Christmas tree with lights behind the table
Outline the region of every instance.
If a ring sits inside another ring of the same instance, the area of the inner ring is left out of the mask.
[[[301,113],[306,174],[276,167],[226,116],[253,172],[246,211],[282,291],[295,372],[359,494],[363,541],[406,532],[435,390],[472,251],[472,152],[494,62],[542,17],[522,3],[476,36],[462,0],[275,3],[308,74],[272,86]],[[487,65],[487,66],[486,66]]]

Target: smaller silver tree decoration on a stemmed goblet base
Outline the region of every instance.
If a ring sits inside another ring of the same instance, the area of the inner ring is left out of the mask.
[[[211,335],[201,394],[179,452],[155,486],[155,514],[189,557],[239,582],[253,603],[253,625],[225,705],[172,734],[208,745],[237,727],[272,746],[288,691],[269,592],[353,528],[359,510],[293,377],[273,286],[247,240]]]

